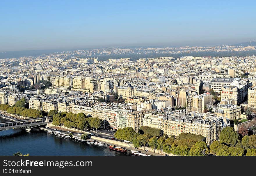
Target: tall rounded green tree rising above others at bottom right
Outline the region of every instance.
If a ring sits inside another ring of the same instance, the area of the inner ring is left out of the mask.
[[[220,143],[228,146],[235,146],[238,139],[239,135],[236,131],[234,131],[233,127],[225,127],[221,130]]]

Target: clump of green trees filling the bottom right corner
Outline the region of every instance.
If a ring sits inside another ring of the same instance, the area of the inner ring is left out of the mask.
[[[255,156],[256,135],[245,135],[239,140],[239,134],[233,127],[221,130],[220,141],[214,141],[210,145],[210,152],[219,156]]]

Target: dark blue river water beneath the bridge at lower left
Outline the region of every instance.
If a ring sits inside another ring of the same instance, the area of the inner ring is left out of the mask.
[[[6,122],[0,118],[0,122]],[[13,155],[17,151],[22,154],[29,153],[31,156],[114,156],[114,155],[131,155],[130,151],[126,154],[111,151],[109,147],[100,147],[88,145],[73,140],[62,139],[42,131],[32,129],[10,129],[0,131],[0,155]]]

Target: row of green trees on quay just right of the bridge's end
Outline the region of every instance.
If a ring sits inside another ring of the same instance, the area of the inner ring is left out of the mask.
[[[84,113],[74,114],[72,112],[49,112],[53,114],[52,124],[61,126],[64,125],[67,128],[77,128],[80,130],[95,128],[96,131],[102,126],[102,120],[99,118],[87,117]]]

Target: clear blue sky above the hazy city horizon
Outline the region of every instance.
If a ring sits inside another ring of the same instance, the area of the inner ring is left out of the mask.
[[[0,51],[256,39],[256,1],[0,1]]]

